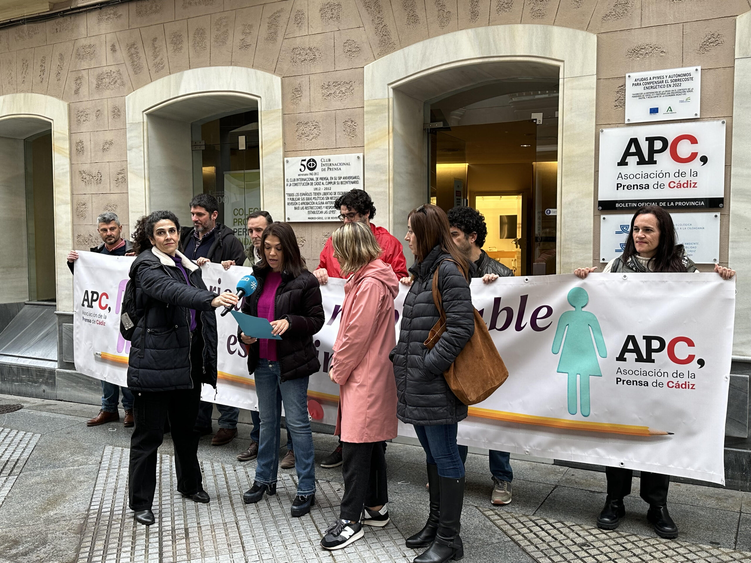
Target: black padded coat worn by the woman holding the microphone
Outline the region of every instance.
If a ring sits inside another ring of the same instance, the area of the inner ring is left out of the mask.
[[[211,306],[216,294],[207,291],[201,269],[178,255],[189,273],[190,285],[185,284],[185,276],[172,258],[156,248],[138,254],[131,265],[140,315],[128,359],[131,391],[192,389],[201,383],[216,387],[216,314]],[[201,342],[190,333],[190,309],[201,315],[203,365],[191,362],[191,345]]]

